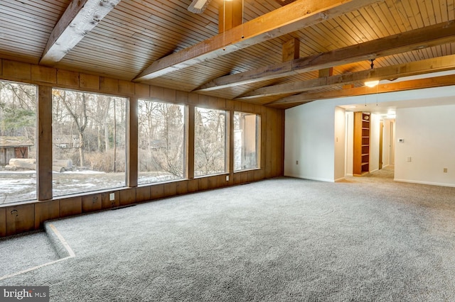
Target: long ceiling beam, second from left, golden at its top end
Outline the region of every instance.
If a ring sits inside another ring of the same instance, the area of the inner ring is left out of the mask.
[[[153,62],[134,82],[226,55],[384,0],[297,0]]]

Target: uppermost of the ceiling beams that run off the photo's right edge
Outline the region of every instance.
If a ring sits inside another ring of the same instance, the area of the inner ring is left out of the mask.
[[[287,7],[287,6],[284,6]],[[317,69],[343,65],[375,57],[395,55],[401,52],[418,50],[434,45],[451,43],[455,38],[455,21],[435,24],[406,33],[390,35],[385,38],[371,40],[365,43],[343,47],[318,55],[302,57],[276,65],[269,65],[247,72],[230,74],[214,79],[194,92],[212,91],[230,86],[250,84],[279,77],[287,77]]]

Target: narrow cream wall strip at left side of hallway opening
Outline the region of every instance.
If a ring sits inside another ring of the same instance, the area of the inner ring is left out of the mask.
[[[345,177],[345,158],[346,158],[346,110],[341,107],[335,107],[335,181]]]

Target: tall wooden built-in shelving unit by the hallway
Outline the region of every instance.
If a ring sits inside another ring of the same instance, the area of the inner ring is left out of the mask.
[[[353,175],[370,172],[370,113],[354,113]]]

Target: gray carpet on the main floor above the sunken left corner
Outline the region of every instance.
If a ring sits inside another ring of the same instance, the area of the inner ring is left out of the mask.
[[[50,301],[455,301],[455,188],[380,173],[55,220],[75,257],[0,286],[50,286]]]

